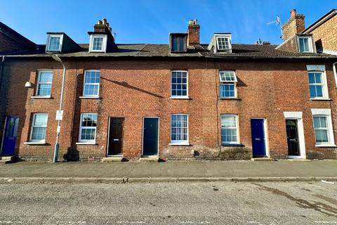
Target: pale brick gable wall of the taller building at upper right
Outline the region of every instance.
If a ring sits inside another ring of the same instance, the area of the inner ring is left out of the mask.
[[[319,25],[315,30],[310,32],[314,34],[316,45],[322,46],[324,51],[337,51],[337,15]],[[318,49],[318,48],[317,48]]]

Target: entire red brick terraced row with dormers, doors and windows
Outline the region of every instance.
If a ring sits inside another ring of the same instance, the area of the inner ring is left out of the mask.
[[[317,53],[315,35],[296,30],[275,46],[215,33],[200,44],[199,29],[190,20],[169,44],[116,44],[99,20],[89,44],[48,32],[46,45],[6,54],[2,155],[51,160],[59,131],[65,160],[337,158],[337,56]],[[66,68],[60,127],[53,55]]]

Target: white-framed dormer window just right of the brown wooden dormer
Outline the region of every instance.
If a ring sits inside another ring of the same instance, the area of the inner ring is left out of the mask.
[[[211,43],[207,47],[209,51],[213,49],[214,53],[217,52],[232,52],[232,34],[224,33],[224,34],[214,34]]]

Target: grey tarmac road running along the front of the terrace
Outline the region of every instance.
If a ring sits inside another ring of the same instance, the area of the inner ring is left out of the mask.
[[[337,184],[0,184],[2,224],[337,224]]]

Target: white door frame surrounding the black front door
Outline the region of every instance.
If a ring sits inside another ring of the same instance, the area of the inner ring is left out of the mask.
[[[303,129],[302,112],[284,112],[284,122],[286,120],[297,120],[297,133],[298,133],[298,147],[300,148],[300,155],[288,155],[291,159],[305,159],[305,139]],[[288,141],[287,141],[288,147]],[[288,147],[289,148],[289,147]]]

